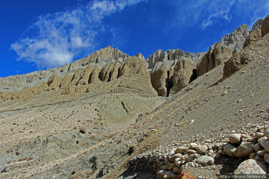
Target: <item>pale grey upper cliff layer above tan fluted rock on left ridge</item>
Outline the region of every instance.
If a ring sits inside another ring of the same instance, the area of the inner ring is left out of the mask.
[[[85,65],[90,65],[92,67],[98,66],[102,68],[108,63],[115,63],[116,61],[123,62],[129,55],[119,51],[116,48],[107,46],[102,48],[90,56],[76,60],[70,64],[65,64],[61,67],[56,67],[48,70],[34,71],[23,75],[14,75],[8,77],[0,77],[0,89],[7,92],[11,90],[21,90],[29,83],[35,82],[36,85],[40,85],[42,79],[49,78],[50,75],[56,74],[59,77],[65,76],[67,72],[75,73],[78,68],[83,68]],[[72,72],[74,71],[74,72]],[[69,76],[71,74],[68,74]],[[48,79],[47,79],[48,80]]]

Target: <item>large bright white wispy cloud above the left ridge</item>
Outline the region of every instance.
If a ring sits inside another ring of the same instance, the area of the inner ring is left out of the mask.
[[[145,0],[95,0],[64,12],[40,15],[26,30],[28,36],[11,44],[11,49],[18,60],[34,63],[39,69],[70,63],[77,54],[96,47],[106,16],[140,1]]]

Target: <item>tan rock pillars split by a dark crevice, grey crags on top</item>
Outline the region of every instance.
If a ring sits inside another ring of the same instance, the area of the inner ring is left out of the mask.
[[[159,49],[150,55],[148,58],[148,71],[150,71],[151,84],[158,95],[164,97],[174,95],[184,88],[186,84],[196,79],[196,62],[194,60],[204,54],[205,52],[188,53],[181,49],[169,49],[167,52]],[[181,60],[179,62],[181,65],[178,65],[177,68],[179,69],[175,70],[179,60]],[[170,94],[171,88],[173,89]]]

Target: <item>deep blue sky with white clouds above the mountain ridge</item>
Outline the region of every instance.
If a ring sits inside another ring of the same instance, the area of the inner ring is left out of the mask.
[[[207,51],[268,0],[10,0],[0,4],[0,77],[60,67],[110,45],[145,58]]]

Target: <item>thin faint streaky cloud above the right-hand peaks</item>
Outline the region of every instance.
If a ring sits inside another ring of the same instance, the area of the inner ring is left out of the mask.
[[[177,1],[174,7],[172,13],[175,18],[171,20],[171,27],[179,30],[186,26],[205,30],[209,26],[218,25],[220,21],[229,24],[238,17],[244,17],[243,23],[246,19],[253,19],[254,23],[269,12],[268,0],[196,0],[195,4]]]

